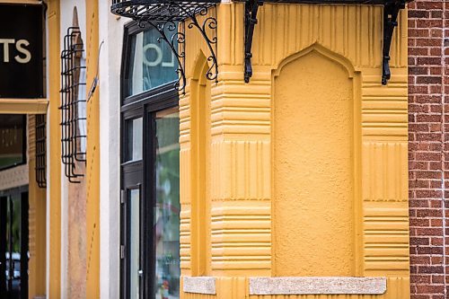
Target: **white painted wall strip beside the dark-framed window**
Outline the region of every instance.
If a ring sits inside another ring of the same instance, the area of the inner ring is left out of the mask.
[[[100,297],[119,299],[120,66],[123,25],[99,3],[100,43]]]

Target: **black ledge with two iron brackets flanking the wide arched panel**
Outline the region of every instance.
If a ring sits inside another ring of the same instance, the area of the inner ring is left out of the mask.
[[[249,83],[252,76],[252,39],[254,27],[257,24],[259,7],[265,3],[290,4],[383,4],[383,57],[382,57],[382,84],[388,83],[391,78],[390,47],[394,28],[398,25],[397,19],[401,9],[405,8],[409,0],[245,0],[245,61],[244,80]]]

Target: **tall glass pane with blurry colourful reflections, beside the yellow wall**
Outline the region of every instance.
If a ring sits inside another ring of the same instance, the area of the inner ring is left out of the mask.
[[[180,118],[178,108],[156,114],[154,207],[155,298],[180,297]]]

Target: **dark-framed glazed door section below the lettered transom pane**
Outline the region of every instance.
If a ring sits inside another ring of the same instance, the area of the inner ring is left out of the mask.
[[[167,97],[123,113],[122,298],[180,298],[180,118],[176,105],[177,98]]]

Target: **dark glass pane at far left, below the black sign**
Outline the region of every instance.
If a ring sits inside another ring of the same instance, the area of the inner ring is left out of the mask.
[[[0,170],[24,163],[23,129],[25,126],[23,115],[0,115]]]

